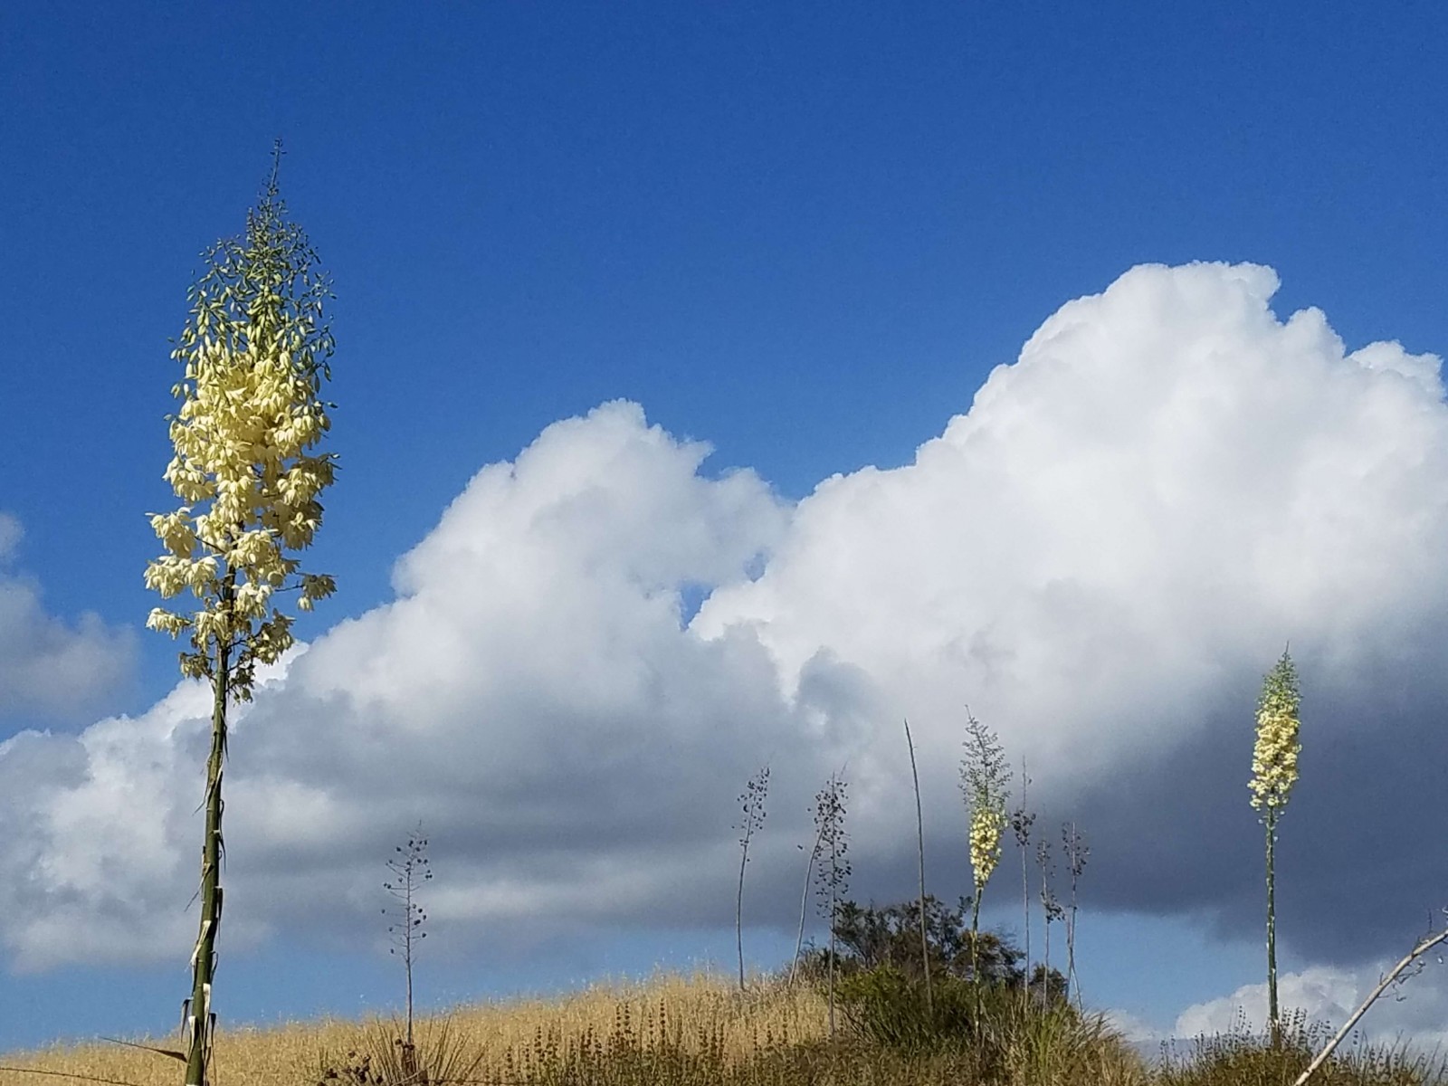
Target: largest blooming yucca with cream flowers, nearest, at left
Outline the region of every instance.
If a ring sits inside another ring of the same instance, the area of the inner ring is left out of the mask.
[[[182,1009],[185,1082],[204,1086],[216,1031],[211,977],[222,924],[222,770],[227,707],[249,701],[256,665],[292,644],[291,618],[274,607],[281,591],[311,608],[330,595],[330,576],[301,573],[294,552],[321,524],[317,495],[333,481],[333,453],[311,455],[329,429],[319,395],[330,378],[332,333],[323,316],[329,281],[300,227],[287,222],[271,178],[246,235],[217,242],[210,269],[190,291],[191,317],[172,358],[184,368],[169,416],[175,456],[165,479],[182,504],[151,515],[165,553],[146,566],[146,586],[164,599],[190,589],[188,613],[155,608],[146,626],[188,636],[181,673],[211,685],[211,752],[206,763],[201,918],[191,953],[191,998]]]

